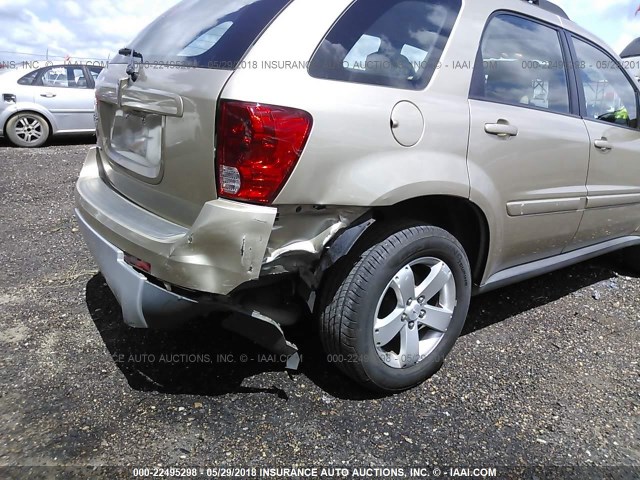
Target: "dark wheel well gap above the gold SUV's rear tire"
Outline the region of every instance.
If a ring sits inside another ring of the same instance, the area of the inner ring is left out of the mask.
[[[473,279],[479,284],[489,252],[489,225],[480,208],[466,198],[429,196],[373,210],[376,221],[402,218],[440,227],[456,237],[469,258]]]

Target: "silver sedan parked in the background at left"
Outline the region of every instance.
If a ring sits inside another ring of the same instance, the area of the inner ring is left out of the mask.
[[[0,135],[40,147],[52,135],[94,134],[99,66],[52,65],[0,74]]]

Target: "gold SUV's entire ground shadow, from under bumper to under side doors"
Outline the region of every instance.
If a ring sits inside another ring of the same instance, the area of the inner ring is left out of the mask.
[[[615,278],[615,265],[611,257],[604,257],[474,297],[462,335]],[[86,301],[113,361],[135,390],[203,396],[269,393],[288,398],[282,385],[266,388],[243,385],[256,375],[283,371],[284,364],[252,342],[223,330],[219,326],[223,318],[220,315],[200,319],[179,330],[129,328],[122,322],[120,307],[100,274],[88,282]],[[337,398],[380,397],[355,386],[327,361],[313,322],[288,329],[287,336],[302,355],[300,371],[292,375],[292,381],[304,374]]]

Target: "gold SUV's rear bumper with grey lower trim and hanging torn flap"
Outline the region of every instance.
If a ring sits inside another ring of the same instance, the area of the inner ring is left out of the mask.
[[[136,328],[171,326],[212,311],[232,310],[247,316],[236,317],[232,330],[286,354],[289,365],[297,364],[295,345],[286,341],[275,321],[217,301],[260,276],[277,210],[213,200],[203,206],[193,226],[185,228],[120,196],[104,183],[96,160],[90,153],[76,185],[76,216],[124,321]],[[126,263],[125,255],[148,263],[150,277],[157,282]],[[187,296],[173,291],[180,289]]]

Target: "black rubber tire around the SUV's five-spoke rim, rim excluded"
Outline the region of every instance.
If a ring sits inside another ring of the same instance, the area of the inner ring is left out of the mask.
[[[357,312],[356,349],[361,356],[360,363],[370,381],[377,388],[384,390],[404,390],[421,383],[442,366],[445,356],[451,351],[462,331],[471,297],[469,262],[462,247],[454,239],[433,235],[429,231],[405,232],[408,233],[409,242],[402,242],[396,246],[389,239],[382,242],[390,255],[374,274],[369,276],[368,298],[363,303],[363,308]],[[375,247],[367,252],[368,255],[376,253]],[[429,356],[412,367],[393,368],[384,363],[375,347],[373,330],[378,301],[398,271],[412,261],[424,257],[437,258],[449,266],[455,279],[457,304],[449,329]]]

